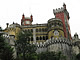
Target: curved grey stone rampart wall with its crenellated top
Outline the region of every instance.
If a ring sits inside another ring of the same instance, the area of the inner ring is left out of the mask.
[[[48,39],[44,43],[36,43],[35,45],[37,47],[36,50],[37,53],[41,53],[45,51],[54,51],[54,52],[62,51],[63,54],[65,55],[71,54],[70,52],[71,52],[72,43],[69,39],[66,39],[64,37]]]

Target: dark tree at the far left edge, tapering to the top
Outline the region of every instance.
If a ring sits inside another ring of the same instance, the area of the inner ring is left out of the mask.
[[[0,59],[1,60],[13,60],[13,48],[5,42],[5,38],[0,33]]]

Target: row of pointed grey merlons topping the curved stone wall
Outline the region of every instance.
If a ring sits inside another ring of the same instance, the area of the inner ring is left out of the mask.
[[[63,38],[63,37],[60,37],[60,38],[52,38],[52,39],[49,39],[49,40],[46,40],[46,42],[42,43],[35,43],[35,45],[37,46],[37,48],[46,48],[47,46],[49,45],[52,45],[52,44],[56,44],[56,43],[61,43],[61,44],[67,44],[69,46],[72,46],[72,43],[69,39],[66,39],[66,38]],[[34,44],[34,43],[32,43]]]

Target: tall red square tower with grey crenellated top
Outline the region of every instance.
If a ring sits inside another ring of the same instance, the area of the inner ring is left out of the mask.
[[[66,9],[66,4],[63,4],[62,8],[58,8],[56,10],[53,10],[55,18],[61,19],[63,22],[63,28],[64,28],[64,36],[66,38],[71,39],[71,33],[70,33],[70,26],[69,26],[69,13]]]

